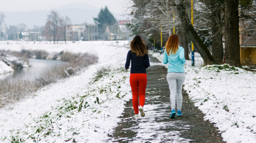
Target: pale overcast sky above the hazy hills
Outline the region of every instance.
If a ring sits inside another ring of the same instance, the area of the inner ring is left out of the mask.
[[[0,11],[50,10],[71,3],[87,3],[96,8],[108,6],[114,14],[124,14],[131,0],[1,0]]]

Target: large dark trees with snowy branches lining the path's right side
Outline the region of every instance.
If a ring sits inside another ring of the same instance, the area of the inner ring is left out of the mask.
[[[192,41],[205,64],[222,64],[225,60],[227,64],[239,66],[239,22],[247,28],[243,32],[255,30],[255,0],[193,0],[194,25],[191,0],[132,1],[134,23],[129,26],[134,34],[142,34],[152,42],[154,38],[159,39],[155,35],[160,35],[162,26],[165,41],[175,27],[186,59]]]

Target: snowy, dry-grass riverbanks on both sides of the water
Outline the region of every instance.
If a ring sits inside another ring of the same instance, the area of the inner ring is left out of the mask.
[[[20,44],[12,46],[0,44],[0,71],[3,71],[2,73],[22,70],[23,67],[28,67],[29,58],[61,60],[67,63],[46,68],[44,73],[35,80],[12,78],[0,80],[0,108],[31,95],[41,87],[76,75],[81,69],[90,64],[95,64],[98,60],[98,57],[94,54],[83,53],[82,51],[79,53],[71,52],[67,49],[46,51],[44,48],[49,45],[40,45],[38,49],[26,49]],[[20,49],[17,50],[17,47]],[[38,72],[41,73],[42,71]],[[1,77],[4,75],[2,74]]]

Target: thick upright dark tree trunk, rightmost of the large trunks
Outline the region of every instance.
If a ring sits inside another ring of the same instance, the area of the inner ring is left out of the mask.
[[[225,6],[225,59],[227,64],[240,66],[239,0],[224,0]]]

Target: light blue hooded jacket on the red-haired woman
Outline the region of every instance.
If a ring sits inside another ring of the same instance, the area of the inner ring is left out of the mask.
[[[171,51],[169,53],[170,56],[164,50],[163,53],[163,64],[168,63],[168,73],[184,73],[185,70],[183,68],[183,64],[185,64],[186,60],[184,57],[184,48],[180,47],[176,52],[176,54],[171,55]]]

